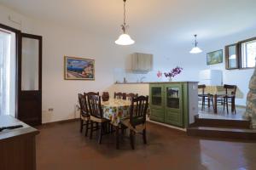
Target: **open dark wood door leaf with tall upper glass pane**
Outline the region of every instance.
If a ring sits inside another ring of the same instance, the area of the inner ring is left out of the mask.
[[[18,118],[30,126],[42,123],[42,37],[21,34]]]

